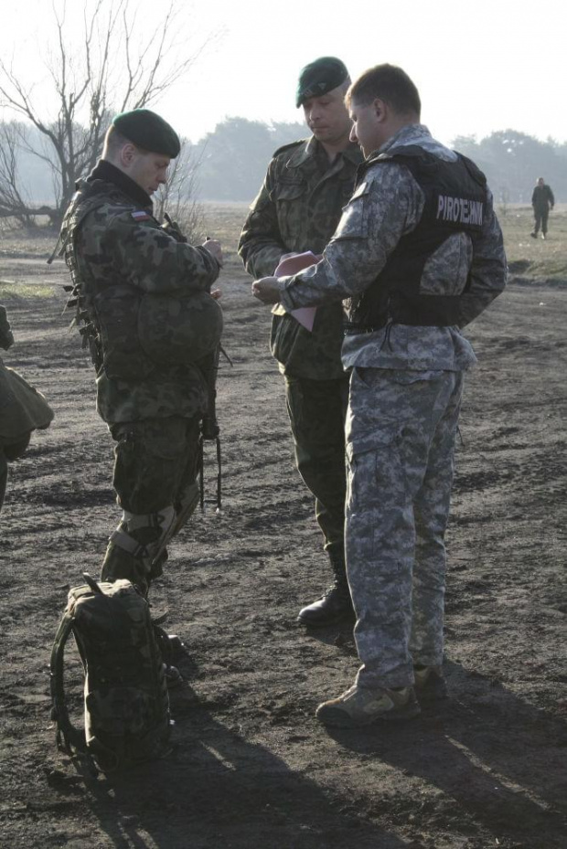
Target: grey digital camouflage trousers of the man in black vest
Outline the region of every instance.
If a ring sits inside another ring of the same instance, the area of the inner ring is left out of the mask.
[[[363,686],[443,662],[444,532],[463,376],[355,368],[347,419],[347,572]]]

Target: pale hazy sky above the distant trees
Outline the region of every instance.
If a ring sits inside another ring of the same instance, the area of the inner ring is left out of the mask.
[[[82,5],[70,0],[70,33]],[[134,0],[144,35],[167,5]],[[0,0],[0,55],[13,58],[46,105],[51,6],[51,0]],[[445,143],[508,128],[567,141],[560,0],[187,0],[180,6],[182,49],[195,52],[213,37],[186,80],[153,108],[193,141],[227,116],[301,121],[294,107],[297,75],[323,55],[342,58],[353,79],[380,62],[401,65],[420,90],[423,122]]]

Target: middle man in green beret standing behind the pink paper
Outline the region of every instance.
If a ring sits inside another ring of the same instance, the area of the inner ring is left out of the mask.
[[[337,227],[362,161],[358,144],[349,141],[348,82],[347,69],[333,57],[316,59],[300,74],[296,105],[303,106],[313,135],[275,152],[252,204],[239,253],[255,277],[273,274],[285,255],[320,254]],[[315,495],[335,575],[323,598],[300,610],[298,621],[322,626],[352,613],[344,554],[344,313],[340,303],[322,305],[313,332],[282,313],[273,315],[271,350],[285,380],[297,468]]]

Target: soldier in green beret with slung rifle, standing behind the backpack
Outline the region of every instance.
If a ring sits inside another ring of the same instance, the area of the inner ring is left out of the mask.
[[[74,283],[70,304],[77,302],[96,367],[97,409],[116,443],[113,485],[123,518],[102,579],[127,578],[144,593],[161,573],[167,540],[198,503],[205,355],[219,341],[219,306],[209,294],[219,243],[191,247],[152,214],[151,195],[179,149],[177,133],[155,112],[116,116],[60,236]],[[203,319],[196,339],[184,337],[189,302]]]

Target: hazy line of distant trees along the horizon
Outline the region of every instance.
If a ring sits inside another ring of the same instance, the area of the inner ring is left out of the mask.
[[[196,198],[250,202],[262,185],[274,151],[307,135],[305,124],[300,122],[227,118],[198,143],[185,140],[169,203],[195,202]],[[480,141],[457,136],[452,146],[484,171],[497,205],[530,204],[540,176],[550,184],[558,202],[567,201],[567,143],[551,139],[540,142],[525,133],[506,130]],[[45,140],[37,128],[0,123],[0,207],[25,208],[29,210],[27,218],[33,217],[34,209],[43,210],[40,214],[44,215],[48,215],[45,210],[51,210],[50,217],[56,221],[59,205],[64,208],[69,200],[69,187],[63,191],[57,186],[57,173],[42,153],[44,149]],[[88,167],[94,161],[91,155]]]

